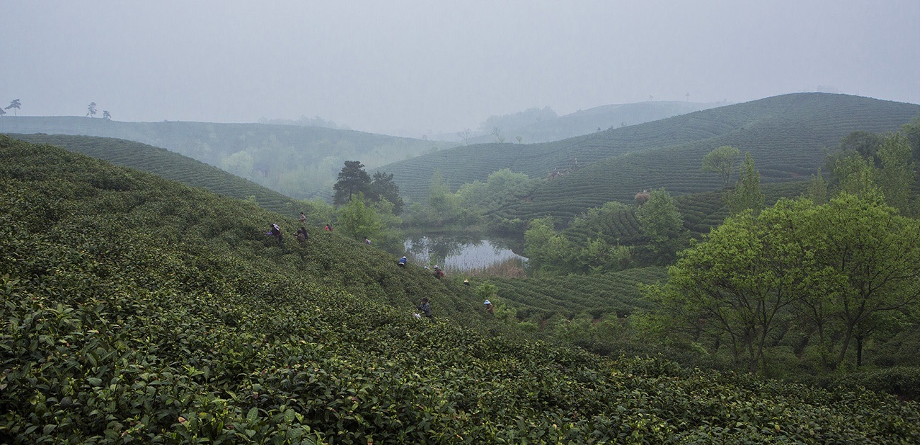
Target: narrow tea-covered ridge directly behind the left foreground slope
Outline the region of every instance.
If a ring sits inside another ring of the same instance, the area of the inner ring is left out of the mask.
[[[9,136],[34,144],[60,146],[232,198],[247,199],[253,196],[260,207],[282,215],[297,215],[300,211],[295,200],[284,194],[164,148],[108,137],[41,134]]]

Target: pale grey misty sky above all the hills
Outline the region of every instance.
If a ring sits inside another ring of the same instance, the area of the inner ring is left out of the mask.
[[[916,0],[0,0],[0,16],[0,107],[22,116],[95,101],[115,121],[320,116],[420,137],[651,96],[919,103]]]

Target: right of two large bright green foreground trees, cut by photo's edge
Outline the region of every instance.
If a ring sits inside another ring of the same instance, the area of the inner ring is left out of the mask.
[[[918,220],[897,215],[881,193],[840,193],[805,218],[804,226],[810,230],[810,250],[827,271],[814,281],[828,291],[825,315],[841,323],[838,352],[827,363],[836,369],[881,314],[917,312]]]

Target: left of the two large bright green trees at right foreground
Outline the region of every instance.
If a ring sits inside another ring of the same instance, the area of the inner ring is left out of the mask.
[[[799,204],[805,205],[810,203]],[[647,297],[672,322],[722,341],[740,368],[764,371],[767,339],[810,285],[789,273],[810,268],[796,228],[793,206],[728,217],[681,252],[668,268],[668,281],[648,287]]]

